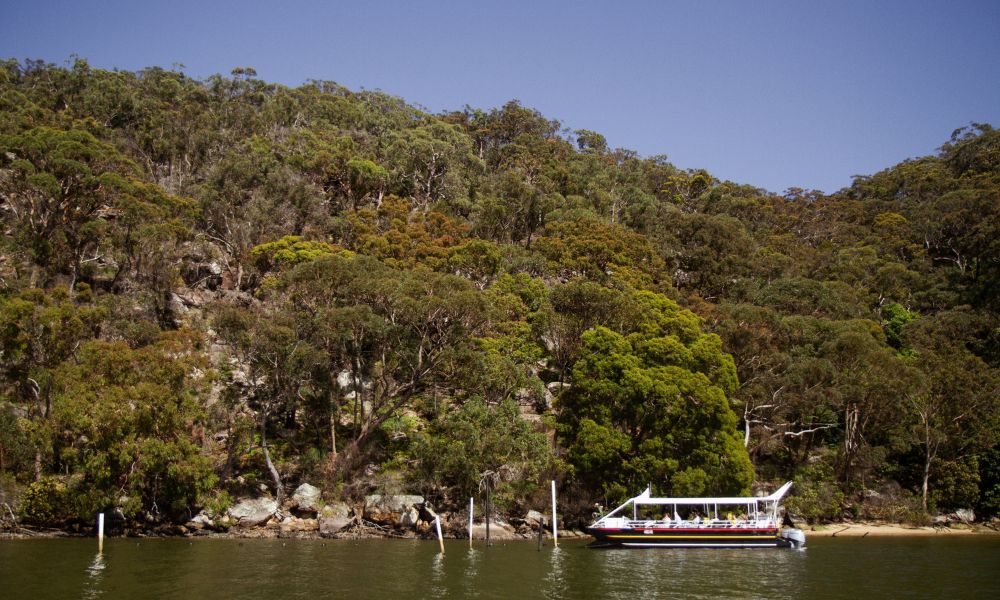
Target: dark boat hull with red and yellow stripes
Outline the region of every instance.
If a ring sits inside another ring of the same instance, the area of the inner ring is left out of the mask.
[[[788,548],[777,528],[591,527],[591,548]]]

